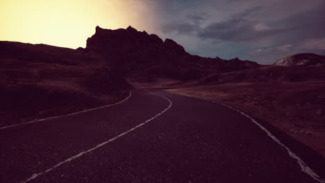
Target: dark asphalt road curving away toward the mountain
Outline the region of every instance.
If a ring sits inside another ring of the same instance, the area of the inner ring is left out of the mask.
[[[224,105],[135,89],[118,105],[1,129],[0,182],[323,182],[276,140]]]

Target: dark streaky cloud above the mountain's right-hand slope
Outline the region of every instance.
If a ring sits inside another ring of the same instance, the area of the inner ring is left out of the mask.
[[[267,28],[259,30],[259,23],[250,20],[249,17],[255,16],[258,10],[263,9],[262,7],[253,7],[244,12],[238,12],[231,19],[226,21],[219,21],[208,26],[201,28],[198,21],[206,20],[207,14],[203,15],[189,15],[189,22],[191,23],[171,23],[163,26],[165,33],[185,33],[192,34],[197,33],[197,37],[209,40],[224,40],[233,42],[245,42],[260,39],[267,35],[274,35],[283,31],[281,28]],[[194,19],[194,21],[192,21]],[[193,24],[197,23],[197,24]]]

